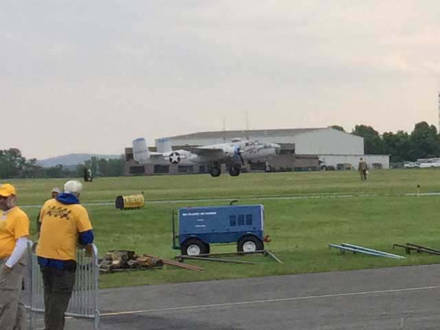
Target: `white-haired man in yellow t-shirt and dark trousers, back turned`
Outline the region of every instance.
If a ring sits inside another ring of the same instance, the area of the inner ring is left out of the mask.
[[[67,181],[64,192],[41,208],[36,256],[43,275],[46,330],[64,329],[64,314],[75,283],[78,243],[94,241],[89,214],[78,199],[82,189],[79,181]]]

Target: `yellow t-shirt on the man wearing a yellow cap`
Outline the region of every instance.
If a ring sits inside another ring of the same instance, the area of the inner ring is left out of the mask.
[[[0,211],[0,258],[8,258],[14,251],[17,239],[29,236],[29,217],[15,206],[7,212]]]

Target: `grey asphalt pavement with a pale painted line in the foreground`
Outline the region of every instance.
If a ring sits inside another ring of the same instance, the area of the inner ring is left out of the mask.
[[[100,329],[440,329],[439,274],[425,265],[105,289]]]

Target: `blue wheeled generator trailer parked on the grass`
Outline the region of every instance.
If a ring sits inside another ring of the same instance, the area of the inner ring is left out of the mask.
[[[236,243],[238,252],[264,249],[264,207],[261,204],[181,208],[178,234],[175,228],[173,217],[173,248],[184,255],[209,254],[213,243]]]

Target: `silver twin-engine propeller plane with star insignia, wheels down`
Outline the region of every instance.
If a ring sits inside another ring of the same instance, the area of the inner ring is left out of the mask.
[[[169,151],[168,153],[153,153],[148,151],[144,137],[133,140],[133,158],[140,164],[208,164],[212,177],[218,177],[221,174],[221,164],[228,164],[229,174],[236,177],[240,175],[241,166],[245,162],[267,161],[278,155],[280,151],[281,146],[279,144],[235,139],[231,143],[188,146],[185,149]]]

